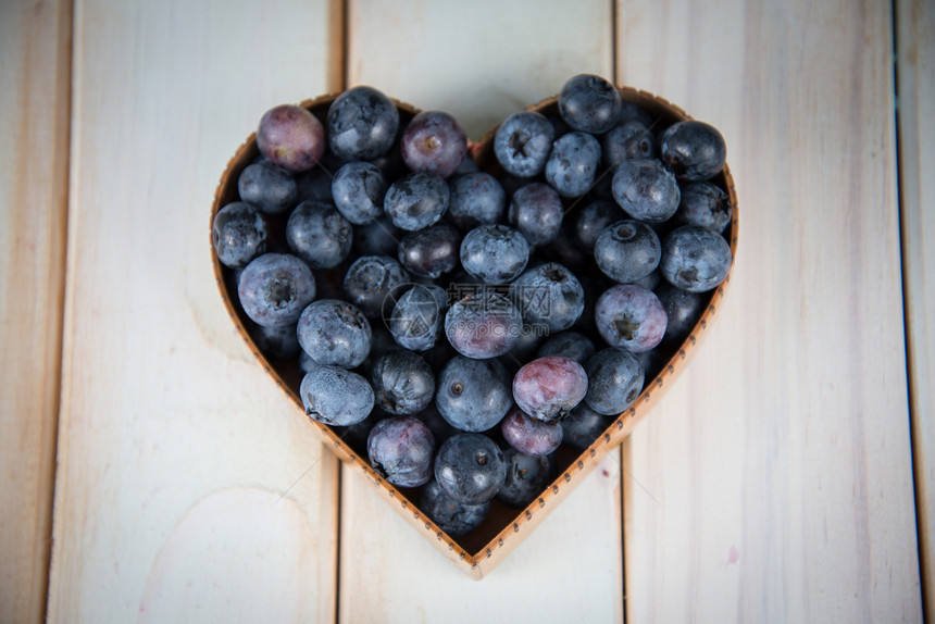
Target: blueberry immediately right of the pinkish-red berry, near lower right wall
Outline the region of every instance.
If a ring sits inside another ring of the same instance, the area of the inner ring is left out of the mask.
[[[585,403],[599,414],[618,415],[639,397],[644,371],[636,355],[610,347],[591,355],[585,365],[588,391]]]

